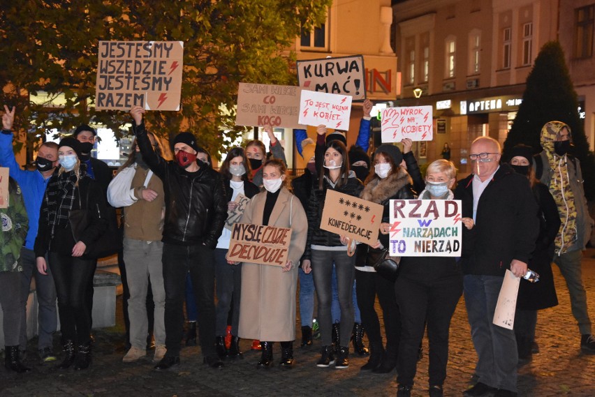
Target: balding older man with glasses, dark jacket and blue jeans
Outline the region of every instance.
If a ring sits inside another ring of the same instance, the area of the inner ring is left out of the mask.
[[[527,177],[499,165],[500,144],[479,137],[471,144],[473,174],[460,181],[462,200],[462,267],[464,297],[478,355],[478,383],[464,396],[516,396],[515,333],[492,324],[504,274],[527,272],[538,233],[537,204]],[[495,394],[494,394],[495,393]]]

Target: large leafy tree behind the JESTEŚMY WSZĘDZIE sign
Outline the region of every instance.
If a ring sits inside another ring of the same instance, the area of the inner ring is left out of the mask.
[[[30,142],[89,122],[122,137],[129,115],[93,106],[98,41],[182,40],[182,110],[147,112],[147,126],[161,136],[189,130],[219,153],[243,130],[234,126],[238,82],[295,84],[288,47],[300,27],[323,22],[331,2],[14,1],[0,10],[0,103],[17,106],[15,126],[28,130]],[[64,108],[29,101],[42,91],[63,97]]]

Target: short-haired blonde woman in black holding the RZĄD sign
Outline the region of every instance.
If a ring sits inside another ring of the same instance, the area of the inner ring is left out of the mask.
[[[455,184],[456,175],[455,165],[450,161],[434,161],[427,167],[426,187],[418,198],[453,200],[454,195],[450,188]],[[381,231],[390,233],[390,224],[383,224]],[[395,292],[401,313],[397,396],[411,396],[418,349],[427,320],[429,396],[440,397],[443,395],[442,384],[446,379],[450,319],[463,292],[460,266],[455,257],[402,257]]]

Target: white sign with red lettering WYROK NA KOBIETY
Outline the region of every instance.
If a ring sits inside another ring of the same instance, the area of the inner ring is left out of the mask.
[[[431,141],[434,137],[432,106],[387,107],[382,110],[382,142]]]

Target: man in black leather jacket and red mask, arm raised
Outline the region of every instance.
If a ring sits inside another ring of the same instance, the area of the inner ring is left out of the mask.
[[[163,282],[166,288],[166,355],[155,366],[163,370],[179,364],[184,324],[184,285],[190,271],[196,306],[198,334],[205,364],[220,368],[215,352],[214,249],[227,218],[223,178],[196,160],[198,146],[191,133],[179,133],[172,142],[174,161],[158,156],[142,122],[142,107],[131,110],[142,159],[163,181],[166,218],[163,225]]]

